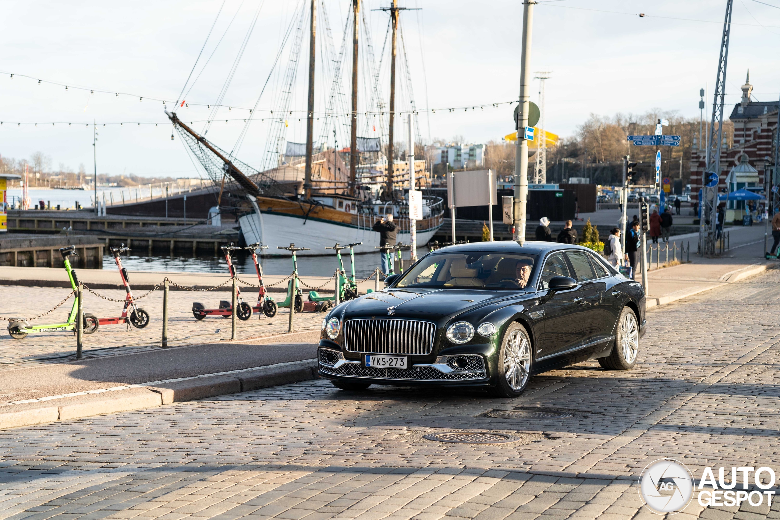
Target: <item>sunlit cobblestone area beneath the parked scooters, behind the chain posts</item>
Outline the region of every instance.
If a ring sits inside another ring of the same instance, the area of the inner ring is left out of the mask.
[[[101,295],[122,299],[125,292],[116,289],[99,289]],[[137,292],[136,296],[144,294]],[[65,288],[19,287],[0,285],[0,317],[32,317],[51,309],[68,295]],[[83,309],[97,317],[116,317],[122,314],[122,303],[100,299],[90,292],[84,292]],[[257,302],[257,292],[244,292],[245,301]],[[280,302],[283,298],[275,295]],[[230,320],[222,317],[206,317],[198,321],[193,317],[193,302],[202,302],[213,309],[219,300],[230,300],[230,292],[168,292],[168,342],[172,347],[211,343],[230,339]],[[112,356],[127,352],[143,352],[159,348],[162,336],[162,290],[155,291],[138,302],[150,316],[150,323],[143,329],[127,325],[102,325],[94,334],[85,334],[84,357]],[[73,306],[69,299],[53,313],[30,322],[30,324],[59,323],[68,319]],[[319,313],[298,313],[295,315],[296,331],[311,331],[320,327],[323,315]],[[271,334],[281,334],[288,328],[289,311],[279,309],[273,318],[253,313],[249,320],[238,322],[238,338],[248,339]],[[71,361],[76,352],[76,335],[73,332],[52,331],[29,334],[18,340],[6,331],[7,323],[0,321],[0,370],[38,363],[62,363]],[[218,332],[217,332],[218,331]],[[157,341],[157,345],[154,345]]]

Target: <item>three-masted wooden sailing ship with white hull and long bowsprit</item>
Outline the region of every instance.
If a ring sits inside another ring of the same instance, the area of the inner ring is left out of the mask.
[[[395,55],[398,13],[397,0],[387,8],[392,19],[391,48],[391,87],[388,111],[388,140],[386,154],[381,154],[379,138],[361,138],[357,136],[358,113],[358,37],[360,0],[353,0],[353,55],[352,55],[352,107],[349,149],[337,150],[318,146],[314,143],[314,63],[315,36],[317,19],[317,0],[310,2],[310,55],[307,100],[307,138],[303,143],[286,143],[285,154],[280,152],[285,143],[284,119],[274,119],[269,134],[270,156],[275,162],[271,168],[260,171],[249,164],[239,161],[232,153],[226,152],[215,143],[194,131],[182,122],[176,112],[165,114],[189,147],[193,156],[219,186],[218,205],[222,195],[229,192],[232,199],[236,196],[239,204],[238,221],[246,243],[260,242],[269,246],[262,249],[264,254],[276,254],[276,246],[286,246],[295,242],[308,247],[299,254],[327,255],[332,250],[325,249],[334,242],[342,244],[362,242],[356,246],[355,253],[375,253],[380,235],[372,227],[385,214],[392,214],[398,227],[399,242],[410,242],[408,189],[430,186],[425,170],[425,161],[414,164],[394,161],[393,126],[395,116]],[[365,18],[363,18],[365,20]],[[300,17],[300,26],[303,16]],[[345,34],[346,40],[346,34]],[[290,67],[296,65],[300,41],[293,44],[290,64],[285,75],[282,93],[282,110],[286,114],[289,108],[289,93],[295,76]],[[343,49],[342,49],[343,51]],[[343,54],[343,52],[342,52]],[[407,68],[408,69],[408,68]],[[338,76],[339,71],[336,71]],[[376,74],[378,78],[378,74]],[[338,78],[335,82],[338,82]],[[335,83],[336,84],[336,83]],[[330,99],[335,96],[332,94]],[[374,100],[378,101],[378,100]],[[177,105],[179,103],[177,102]],[[380,105],[381,106],[381,105]],[[332,112],[332,104],[328,112]],[[323,126],[323,134],[325,127]],[[335,131],[334,131],[335,132]],[[303,149],[303,153],[296,152]],[[300,157],[303,156],[303,159]],[[345,156],[347,161],[345,161]],[[294,158],[297,157],[297,158]],[[372,161],[373,160],[373,161]],[[268,162],[268,161],[267,161]],[[414,186],[410,185],[413,168]],[[303,169],[303,180],[300,172]],[[423,219],[415,221],[417,243],[421,246],[429,242],[441,227],[444,220],[444,207],[441,198],[423,196]]]

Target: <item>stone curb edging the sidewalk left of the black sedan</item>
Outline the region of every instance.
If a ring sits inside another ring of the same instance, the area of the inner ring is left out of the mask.
[[[174,402],[194,401],[218,395],[300,383],[317,379],[317,363],[298,366],[280,366],[274,369],[258,369],[231,376],[195,377],[189,380],[159,384],[154,387],[129,388],[123,391],[81,395],[65,398],[60,402],[45,401],[19,405],[13,410],[0,408],[0,430],[20,428],[35,424],[53,423],[80,417],[99,416],[106,413],[129,412],[168,405]]]

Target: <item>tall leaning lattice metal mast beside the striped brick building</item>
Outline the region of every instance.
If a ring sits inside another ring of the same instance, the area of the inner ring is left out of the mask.
[[[718,76],[715,80],[715,92],[712,103],[712,119],[707,139],[707,167],[701,178],[701,199],[699,201],[701,218],[699,221],[699,248],[702,255],[715,252],[715,221],[718,218],[718,184],[721,175],[721,150],[723,146],[723,104],[725,100],[726,65],[729,62],[729,36],[731,34],[731,18],[733,0],[727,0],[725,19],[723,20],[723,35],[721,37],[721,53],[718,58]],[[718,129],[715,129],[715,123]],[[715,186],[707,188],[711,174],[718,176]],[[710,227],[707,228],[707,215],[710,215]]]

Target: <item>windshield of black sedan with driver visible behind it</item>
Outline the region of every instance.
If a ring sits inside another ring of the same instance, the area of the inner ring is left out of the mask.
[[[527,253],[441,253],[426,256],[395,287],[525,288],[537,256]]]

